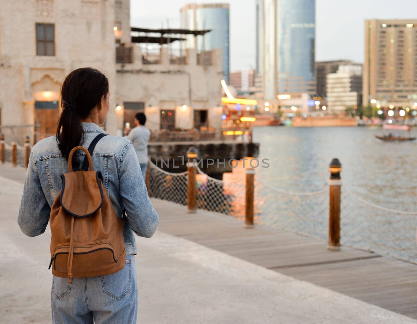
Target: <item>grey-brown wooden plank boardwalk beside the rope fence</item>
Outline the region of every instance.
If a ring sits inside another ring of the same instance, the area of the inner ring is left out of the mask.
[[[159,230],[297,279],[417,319],[417,266],[284,230],[244,228],[242,221],[153,199]],[[277,292],[279,294],[279,292]]]

